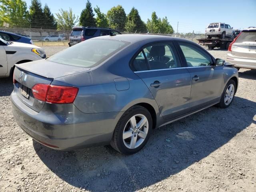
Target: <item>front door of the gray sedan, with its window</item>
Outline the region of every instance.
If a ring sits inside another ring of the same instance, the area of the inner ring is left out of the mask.
[[[191,76],[190,111],[220,100],[223,67],[215,66],[210,54],[196,45],[179,42]]]

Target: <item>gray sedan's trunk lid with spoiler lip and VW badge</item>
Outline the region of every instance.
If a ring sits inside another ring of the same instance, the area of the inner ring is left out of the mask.
[[[34,98],[32,87],[35,84],[51,84],[54,78],[90,70],[77,66],[58,64],[47,60],[16,64],[14,70],[14,91],[20,100],[36,112],[40,112],[44,101]]]

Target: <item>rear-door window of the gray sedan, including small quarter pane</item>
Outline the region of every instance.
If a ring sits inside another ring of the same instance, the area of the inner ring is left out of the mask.
[[[135,71],[160,70],[180,67],[170,44],[146,46],[133,61]]]

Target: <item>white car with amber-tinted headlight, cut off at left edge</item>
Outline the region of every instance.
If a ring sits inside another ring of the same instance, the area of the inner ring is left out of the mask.
[[[0,77],[12,77],[15,64],[40,60],[46,58],[46,54],[38,46],[0,38],[0,58]]]

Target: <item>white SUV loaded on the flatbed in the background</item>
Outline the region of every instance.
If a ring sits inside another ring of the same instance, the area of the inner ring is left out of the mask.
[[[219,37],[221,39],[225,37],[234,38],[235,31],[230,25],[225,23],[210,23],[206,28],[206,36],[207,38]]]

